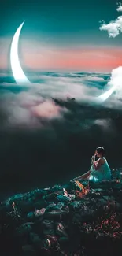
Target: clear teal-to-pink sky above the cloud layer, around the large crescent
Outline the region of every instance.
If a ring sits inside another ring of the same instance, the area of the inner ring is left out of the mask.
[[[20,62],[31,70],[111,72],[122,63],[122,35],[100,31],[121,15],[116,0],[16,0],[0,9],[0,69],[9,69],[9,49],[20,24]],[[43,48],[44,47],[44,48]]]

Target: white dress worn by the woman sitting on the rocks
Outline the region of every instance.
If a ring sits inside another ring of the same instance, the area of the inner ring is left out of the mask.
[[[98,170],[94,169],[94,165],[91,165],[91,175],[89,180],[94,182],[100,182],[102,180],[111,180],[111,170],[109,168],[109,164],[105,158],[105,163],[100,166]]]

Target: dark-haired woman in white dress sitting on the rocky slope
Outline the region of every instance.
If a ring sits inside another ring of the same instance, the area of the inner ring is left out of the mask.
[[[98,160],[95,161],[95,157],[98,157]],[[111,170],[109,164],[105,159],[105,149],[103,147],[98,147],[94,153],[94,156],[91,158],[91,169],[84,173],[82,176],[76,177],[71,180],[93,180],[94,182],[100,182],[102,180],[111,180]]]

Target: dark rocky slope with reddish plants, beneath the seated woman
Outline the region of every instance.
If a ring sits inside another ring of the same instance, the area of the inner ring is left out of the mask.
[[[121,169],[112,181],[74,181],[1,202],[0,241],[3,256],[121,255]]]

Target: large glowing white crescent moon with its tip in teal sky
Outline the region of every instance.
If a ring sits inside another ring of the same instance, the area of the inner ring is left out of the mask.
[[[20,36],[20,31],[21,28],[23,27],[23,24],[20,24],[20,27],[17,28],[17,32],[13,36],[13,41],[11,44],[11,50],[10,50],[10,63],[11,63],[11,69],[13,72],[13,77],[18,85],[22,84],[31,84],[28,78],[25,76],[21,66],[20,66],[20,61],[18,57],[18,43],[19,43],[19,36]]]

